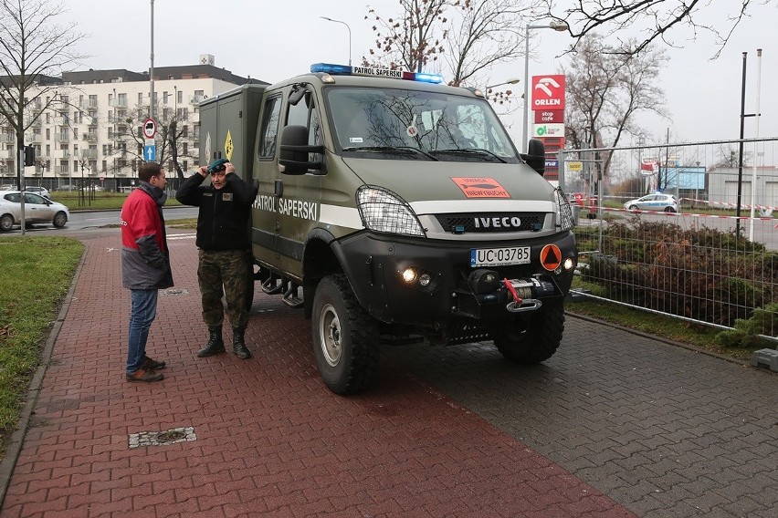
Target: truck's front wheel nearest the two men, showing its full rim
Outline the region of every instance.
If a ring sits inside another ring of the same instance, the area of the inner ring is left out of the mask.
[[[378,375],[378,326],[345,275],[321,279],[313,296],[311,339],[321,379],[336,394],[355,394]]]

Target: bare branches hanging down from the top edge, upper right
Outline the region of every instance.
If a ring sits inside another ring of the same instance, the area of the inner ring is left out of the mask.
[[[735,15],[727,15],[723,5],[720,6],[722,19],[711,23],[699,22],[699,11],[703,7],[714,7],[710,2],[699,0],[626,0],[620,2],[603,2],[602,0],[578,0],[560,9],[558,0],[543,0],[545,8],[542,17],[564,21],[570,27],[570,35],[575,38],[573,48],[577,47],[584,36],[595,31],[607,31],[606,34],[618,37],[624,29],[639,28],[644,36],[619,40],[619,52],[638,54],[652,42],[659,39],[666,45],[674,46],[670,32],[679,26],[686,26],[697,36],[699,32],[713,35],[721,50],[727,45],[732,32],[747,16],[750,5],[768,4],[772,0],[732,0],[728,5],[736,10]]]

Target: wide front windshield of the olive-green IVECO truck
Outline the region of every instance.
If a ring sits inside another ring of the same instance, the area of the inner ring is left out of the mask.
[[[335,87],[327,88],[326,95],[335,139],[344,155],[520,162],[482,98],[401,88]],[[420,152],[409,154],[409,148]]]

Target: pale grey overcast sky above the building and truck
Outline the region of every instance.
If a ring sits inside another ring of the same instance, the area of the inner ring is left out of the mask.
[[[740,2],[713,0],[705,7],[712,23],[725,19],[726,9]],[[62,21],[75,20],[89,36],[79,52],[89,55],[78,69],[128,68],[148,70],[151,55],[151,0],[66,0]],[[201,54],[216,57],[216,66],[238,76],[270,83],[308,71],[311,63],[347,63],[349,28],[320,16],[342,20],[351,29],[352,63],[358,64],[374,47],[372,25],[364,19],[369,7],[384,17],[396,16],[397,0],[155,0],[154,66],[194,65]],[[640,122],[651,136],[648,143],[663,142],[669,129],[673,141],[737,139],[740,134],[742,53],[748,52],[746,113],[756,109],[758,59],[762,48],[759,122],[761,137],[778,136],[778,2],[753,5],[751,16],[736,29],[718,59],[710,35],[678,31],[671,36],[682,48],[667,48],[668,63],[657,81],[667,94],[671,119],[644,116]],[[706,20],[707,21],[707,20]],[[530,75],[557,73],[567,57],[557,57],[569,43],[566,33],[533,30],[537,52]],[[488,84],[524,77],[524,61],[492,71]],[[520,91],[523,85],[516,85]],[[520,123],[511,123],[511,136],[520,140]],[[755,118],[746,119],[745,137],[755,135]],[[624,145],[628,142],[624,142]]]

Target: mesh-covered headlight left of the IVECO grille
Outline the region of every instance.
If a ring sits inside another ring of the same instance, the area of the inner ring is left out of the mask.
[[[405,200],[375,185],[357,191],[357,208],[365,228],[376,232],[424,236],[418,218]]]

